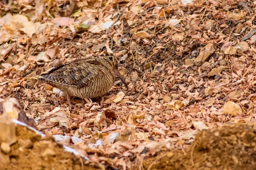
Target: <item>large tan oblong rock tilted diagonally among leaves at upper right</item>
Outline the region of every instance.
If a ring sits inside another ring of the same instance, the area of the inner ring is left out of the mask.
[[[200,66],[204,62],[208,61],[212,54],[215,52],[215,49],[213,47],[212,43],[207,44],[204,48],[201,49],[200,54],[195,59],[195,63]]]

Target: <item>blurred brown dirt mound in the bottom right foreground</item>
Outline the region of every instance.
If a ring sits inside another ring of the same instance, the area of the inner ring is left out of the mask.
[[[256,122],[204,130],[188,148],[143,162],[147,170],[255,170]],[[153,162],[153,163],[152,163]]]

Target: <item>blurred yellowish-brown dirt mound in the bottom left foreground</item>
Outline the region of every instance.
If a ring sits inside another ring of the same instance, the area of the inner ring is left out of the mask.
[[[10,153],[0,152],[1,170],[98,170],[99,167],[64,151],[52,137],[41,137],[32,130],[18,125],[17,142]],[[2,151],[3,152],[3,151]]]

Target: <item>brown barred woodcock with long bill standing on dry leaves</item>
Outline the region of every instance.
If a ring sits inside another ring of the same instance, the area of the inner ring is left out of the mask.
[[[105,53],[95,58],[60,65],[38,79],[66,92],[67,101],[71,105],[70,96],[86,99],[106,94],[115,82],[115,74],[128,88],[116,68],[116,57]]]

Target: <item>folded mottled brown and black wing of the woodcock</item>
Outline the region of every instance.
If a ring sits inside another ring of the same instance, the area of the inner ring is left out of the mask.
[[[56,82],[61,85],[73,86],[82,88],[90,85],[95,78],[100,78],[104,72],[101,67],[104,67],[96,59],[81,59],[76,62],[71,62],[65,65],[60,65],[54,68],[48,74],[42,75],[44,82]]]

